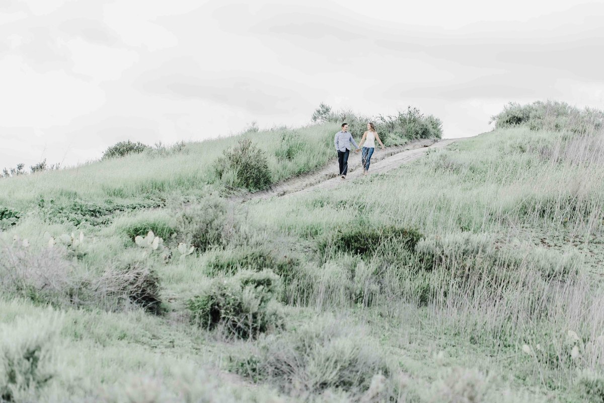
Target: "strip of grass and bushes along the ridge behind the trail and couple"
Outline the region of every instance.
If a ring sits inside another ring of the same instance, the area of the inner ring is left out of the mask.
[[[58,171],[44,161],[26,175],[20,164],[5,169],[2,176],[7,180],[0,181],[0,228],[14,225],[25,212],[37,211],[49,223],[106,225],[116,211],[164,207],[175,199],[194,201],[208,189],[262,190],[335,158],[333,134],[341,118],[349,121],[358,140],[370,121],[338,112],[311,126],[268,131],[252,126],[242,134],[201,143],[149,147],[121,141],[98,163]],[[379,117],[376,123],[387,145],[442,134],[437,118],[424,117],[411,107],[397,116]]]

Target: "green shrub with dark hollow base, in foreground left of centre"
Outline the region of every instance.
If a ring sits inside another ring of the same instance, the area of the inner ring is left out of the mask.
[[[221,327],[227,337],[254,338],[283,326],[277,286],[278,277],[270,270],[242,271],[214,279],[187,306],[191,319],[204,329]]]

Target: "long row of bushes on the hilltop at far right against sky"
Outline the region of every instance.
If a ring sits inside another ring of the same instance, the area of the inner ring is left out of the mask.
[[[525,126],[530,130],[570,131],[578,134],[596,132],[604,127],[604,112],[579,109],[565,102],[536,101],[527,105],[510,102],[491,117],[496,129]]]

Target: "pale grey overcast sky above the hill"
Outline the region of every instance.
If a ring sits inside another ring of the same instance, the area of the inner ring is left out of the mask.
[[[604,1],[0,0],[0,169],[121,140],[406,106],[445,137],[507,102],[604,108]]]

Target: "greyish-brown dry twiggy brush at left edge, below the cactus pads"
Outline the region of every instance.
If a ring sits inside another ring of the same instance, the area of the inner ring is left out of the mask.
[[[53,306],[95,307],[109,311],[140,306],[161,312],[159,277],[135,259],[109,262],[103,272],[78,271],[59,247],[0,246],[0,293]]]

